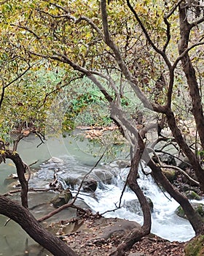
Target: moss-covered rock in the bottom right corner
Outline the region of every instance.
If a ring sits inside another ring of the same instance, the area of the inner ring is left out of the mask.
[[[192,238],[184,248],[185,256],[203,256],[204,255],[204,236]]]

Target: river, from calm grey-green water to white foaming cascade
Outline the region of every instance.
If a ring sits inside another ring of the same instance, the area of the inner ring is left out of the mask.
[[[74,138],[58,138],[47,140],[42,146],[39,146],[37,138],[26,138],[20,143],[18,152],[23,161],[28,165],[36,162],[31,169],[36,168],[39,172],[31,179],[31,187],[46,187],[49,180],[52,179],[53,173],[58,168],[58,175],[65,177],[66,173],[71,176],[80,176],[87,173],[95,165],[99,157],[90,154],[92,151],[87,145],[87,140],[74,140]],[[96,147],[95,151],[99,152],[100,148]],[[61,162],[46,162],[47,159],[58,157]],[[118,156],[120,157],[120,156]],[[46,163],[45,163],[46,162]],[[87,196],[85,193],[80,197],[85,200],[93,211],[103,213],[115,209],[119,202],[124,180],[128,173],[127,167],[119,167],[117,161],[106,164],[102,161],[96,167],[98,170],[116,170],[119,169],[119,175],[112,179],[111,184],[101,184],[95,191],[95,196]],[[147,169],[146,169],[147,170]],[[149,170],[147,170],[149,171]],[[4,184],[4,179],[10,174],[15,173],[15,166],[12,162],[0,165],[0,192],[7,192],[8,188]],[[152,233],[166,238],[170,241],[187,241],[195,233],[191,225],[185,219],[181,219],[174,214],[178,203],[165,195],[152,180],[151,176],[145,176],[140,173],[138,183],[144,191],[144,194],[151,198],[154,203],[152,213]],[[73,192],[74,193],[74,192]],[[15,198],[15,196],[14,196]],[[45,200],[45,197],[42,197]],[[133,207],[128,208],[128,201],[134,200],[136,196],[130,189],[126,189],[122,197],[124,207],[117,211],[109,211],[105,217],[119,217],[134,220],[142,224],[143,217],[140,212],[134,211]],[[42,214],[40,212],[39,214]],[[26,233],[14,222],[10,221],[4,227],[7,218],[0,216],[0,255],[15,256],[22,255],[25,249]],[[29,238],[29,243],[33,244]]]

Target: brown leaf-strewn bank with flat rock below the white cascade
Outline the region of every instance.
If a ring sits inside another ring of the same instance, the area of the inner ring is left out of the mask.
[[[47,229],[52,233],[55,232],[80,256],[108,256],[122,242],[122,237],[127,235],[131,228],[137,228],[137,225],[136,222],[125,219],[103,218],[97,214],[86,214],[72,222],[52,224]],[[126,255],[184,256],[185,244],[178,241],[170,242],[150,234],[136,242]]]

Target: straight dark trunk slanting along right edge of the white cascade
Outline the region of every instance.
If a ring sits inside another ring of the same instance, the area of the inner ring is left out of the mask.
[[[175,199],[183,208],[184,213],[187,215],[187,219],[189,219],[189,222],[195,230],[195,234],[204,234],[203,220],[200,215],[195,212],[194,208],[192,208],[192,205],[189,203],[187,197],[178,192],[177,189],[174,189],[174,187],[162,173],[161,168],[155,165],[152,159],[149,160],[147,165],[151,168],[152,175],[157,180],[157,182],[160,183],[162,187],[164,187],[165,190],[169,193],[169,195],[173,197],[173,199]]]

